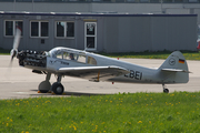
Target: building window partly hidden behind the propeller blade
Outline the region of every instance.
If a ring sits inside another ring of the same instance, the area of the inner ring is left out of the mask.
[[[4,21],[4,28],[6,28],[4,35],[13,37],[17,27],[21,29],[21,35],[23,35],[23,21],[22,20],[6,20]]]

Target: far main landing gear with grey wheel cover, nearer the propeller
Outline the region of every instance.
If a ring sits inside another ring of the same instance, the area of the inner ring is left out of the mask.
[[[50,78],[51,78],[51,73],[47,73],[46,80],[39,84],[38,90],[40,93],[47,93],[50,91],[51,89],[51,83],[49,82]]]

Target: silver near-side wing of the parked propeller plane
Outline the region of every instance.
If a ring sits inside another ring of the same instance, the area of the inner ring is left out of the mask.
[[[63,75],[79,76],[96,82],[130,73],[129,70],[116,65],[60,68],[57,72]]]

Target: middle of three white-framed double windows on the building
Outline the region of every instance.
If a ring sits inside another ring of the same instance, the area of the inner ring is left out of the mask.
[[[49,22],[31,21],[31,37],[49,37]]]

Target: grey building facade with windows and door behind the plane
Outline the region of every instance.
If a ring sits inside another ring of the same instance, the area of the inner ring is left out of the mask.
[[[164,8],[170,3],[163,2],[160,7],[159,2],[141,2],[141,0],[138,3],[118,0],[2,1],[0,0],[0,3],[10,4],[7,9],[0,4],[2,10],[0,11],[0,48],[3,49],[12,48],[16,27],[22,30],[20,50],[69,47],[94,52],[140,52],[194,51],[197,48],[198,11],[200,10],[197,6],[200,3],[196,0],[193,2],[197,3],[191,3],[196,8],[186,9],[180,9],[183,3],[176,4],[180,6],[179,9],[172,8],[171,3],[170,9]],[[114,4],[119,3],[127,8],[119,8],[116,11],[114,8],[118,6]],[[184,4],[189,6],[188,3],[189,1],[184,1]],[[129,8],[129,4],[132,8]],[[141,11],[138,9],[140,6],[152,10]]]

